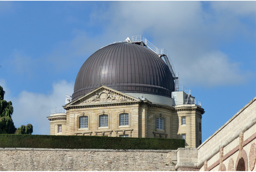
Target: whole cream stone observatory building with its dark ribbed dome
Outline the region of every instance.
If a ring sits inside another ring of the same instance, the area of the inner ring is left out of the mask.
[[[191,92],[175,87],[175,73],[138,42],[105,46],[77,74],[66,113],[51,114],[50,134],[162,137],[202,143],[204,109]]]

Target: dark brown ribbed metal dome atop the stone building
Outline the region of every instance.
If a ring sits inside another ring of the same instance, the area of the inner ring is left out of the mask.
[[[93,53],[80,68],[72,99],[100,85],[124,93],[171,97],[170,70],[155,52],[133,43],[114,43]]]

